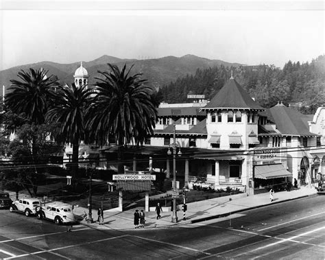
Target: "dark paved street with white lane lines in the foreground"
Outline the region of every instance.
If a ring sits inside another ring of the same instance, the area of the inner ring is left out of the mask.
[[[178,226],[133,230],[56,226],[0,211],[0,258],[324,259],[325,196]]]

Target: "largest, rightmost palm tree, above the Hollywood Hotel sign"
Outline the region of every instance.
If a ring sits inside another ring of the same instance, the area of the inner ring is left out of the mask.
[[[147,86],[147,80],[141,80],[141,73],[130,75],[132,67],[126,71],[126,65],[120,70],[114,64],[108,64],[110,71],[98,71],[103,76],[96,78],[97,96],[91,108],[87,128],[92,129],[97,143],[104,145],[109,137],[114,137],[121,146],[128,143],[139,145],[148,134],[153,133],[157,118],[154,91]],[[119,163],[119,173],[123,171]]]

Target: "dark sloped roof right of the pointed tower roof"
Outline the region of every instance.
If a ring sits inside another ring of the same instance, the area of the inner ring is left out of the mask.
[[[302,115],[297,110],[288,108],[282,104],[278,104],[267,111],[272,116],[272,121],[276,124],[276,128],[283,135],[296,136],[315,136],[309,132],[309,117]]]

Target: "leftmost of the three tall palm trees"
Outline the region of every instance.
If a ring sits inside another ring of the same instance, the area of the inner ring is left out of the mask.
[[[19,71],[21,80],[10,80],[5,106],[16,115],[24,115],[32,128],[44,123],[45,114],[53,98],[54,88],[59,86],[55,75],[47,77],[43,68]],[[36,155],[36,140],[32,142],[32,154]]]

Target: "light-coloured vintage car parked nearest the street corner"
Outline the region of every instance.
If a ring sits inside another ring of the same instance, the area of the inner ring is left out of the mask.
[[[57,225],[75,222],[73,206],[64,202],[49,202],[45,206],[36,209],[38,220],[53,220]]]

